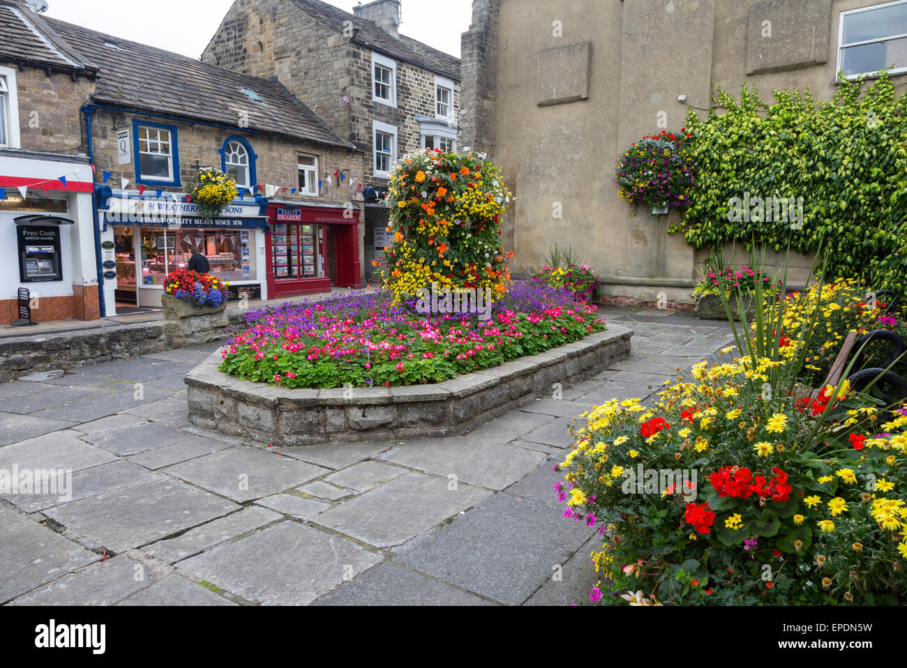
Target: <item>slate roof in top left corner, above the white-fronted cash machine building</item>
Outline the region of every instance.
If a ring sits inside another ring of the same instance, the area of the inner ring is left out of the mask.
[[[63,43],[41,15],[19,0],[0,0],[0,61],[91,76],[97,68]]]

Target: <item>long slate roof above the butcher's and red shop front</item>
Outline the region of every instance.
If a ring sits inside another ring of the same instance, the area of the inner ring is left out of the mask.
[[[356,148],[341,139],[278,82],[44,17],[55,34],[99,68],[92,101],[196,121]],[[242,92],[254,91],[261,101]]]

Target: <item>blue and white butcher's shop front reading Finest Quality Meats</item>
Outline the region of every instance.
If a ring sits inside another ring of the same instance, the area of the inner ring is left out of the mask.
[[[120,193],[104,202],[105,290],[121,308],[160,308],[164,281],[190,258],[207,258],[210,274],[229,283],[233,298],[267,299],[268,218],[258,202],[234,202],[221,217],[200,218],[185,201]],[[184,199],[184,198],[180,198]]]

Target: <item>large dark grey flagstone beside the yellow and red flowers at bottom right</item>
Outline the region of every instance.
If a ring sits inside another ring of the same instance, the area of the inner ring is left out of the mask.
[[[520,605],[594,529],[558,508],[498,494],[395,561],[476,594]]]

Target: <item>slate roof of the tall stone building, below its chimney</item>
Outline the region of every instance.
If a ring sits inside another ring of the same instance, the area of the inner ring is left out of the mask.
[[[353,38],[353,44],[366,46],[396,60],[413,63],[431,72],[443,74],[454,81],[460,81],[460,59],[450,53],[438,51],[428,44],[423,44],[402,34],[397,39],[394,35],[379,28],[374,21],[352,15],[339,7],[320,2],[320,0],[292,1],[307,14],[316,16],[338,33],[343,32],[344,21],[352,21],[353,25],[359,28],[359,34]]]

